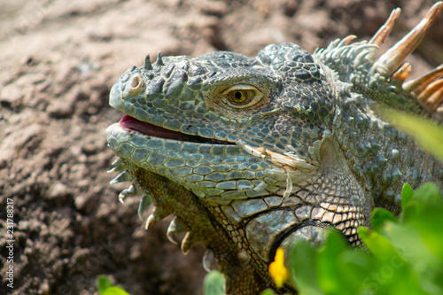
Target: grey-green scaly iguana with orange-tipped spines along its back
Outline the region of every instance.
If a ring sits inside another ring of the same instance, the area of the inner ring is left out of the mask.
[[[350,35],[313,54],[283,43],[255,58],[148,55],[110,92],[126,114],[106,130],[119,156],[111,171],[122,171],[112,183],[132,182],[120,198],[144,195],[140,216],[154,204],[146,228],[175,215],[167,237],[186,232],[185,253],[201,241],[229,294],[276,290],[268,265],[295,241],[338,229],[360,245],[356,229],[370,227],[375,206],[400,212],[403,183],[443,180],[441,163],[380,107],[440,120],[443,65],[406,82],[404,59],[442,7],[381,55],[400,9],[369,42]]]

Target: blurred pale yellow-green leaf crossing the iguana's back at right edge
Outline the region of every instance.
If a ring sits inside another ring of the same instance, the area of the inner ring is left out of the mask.
[[[424,119],[415,114],[387,111],[385,116],[393,126],[400,128],[416,139],[425,151],[428,151],[435,158],[443,160],[443,128],[438,123]]]

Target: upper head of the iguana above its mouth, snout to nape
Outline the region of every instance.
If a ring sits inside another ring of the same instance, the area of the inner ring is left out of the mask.
[[[330,132],[334,86],[311,55],[286,43],[269,45],[256,58],[159,55],[152,65],[148,57],[114,84],[110,104],[159,127],[154,133],[173,131],[170,139],[247,144],[312,163],[309,148]]]

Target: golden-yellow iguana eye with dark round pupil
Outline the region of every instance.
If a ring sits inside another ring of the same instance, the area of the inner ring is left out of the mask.
[[[236,108],[255,105],[262,97],[263,94],[259,89],[248,84],[234,85],[221,93],[221,100]]]

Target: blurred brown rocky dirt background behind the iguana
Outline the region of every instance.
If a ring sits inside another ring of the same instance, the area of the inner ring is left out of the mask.
[[[312,51],[369,39],[393,8],[398,40],[434,1],[15,0],[0,2],[0,293],[97,294],[112,276],[132,295],[201,294],[203,249],[183,256],[167,221],[148,232],[139,198],[109,185],[105,128],[122,116],[108,92],[146,53],[254,56],[269,43]],[[443,16],[410,58],[414,75],[443,62]],[[14,283],[6,286],[6,200],[13,200]],[[147,216],[144,216],[147,217]]]

